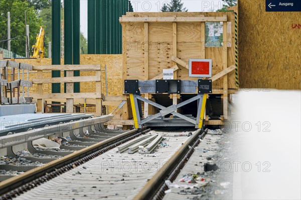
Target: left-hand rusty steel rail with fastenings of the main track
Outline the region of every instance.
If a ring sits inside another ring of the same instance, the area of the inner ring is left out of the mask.
[[[133,129],[104,141],[98,142],[60,159],[53,160],[37,168],[31,169],[16,177],[0,182],[0,199],[10,199],[24,191],[40,185],[82,163],[120,145],[134,137],[148,132],[150,129]],[[140,132],[138,132],[140,131]]]

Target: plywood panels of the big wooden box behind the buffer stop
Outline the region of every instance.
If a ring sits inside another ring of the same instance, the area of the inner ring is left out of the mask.
[[[222,17],[225,13],[147,13],[148,17]],[[234,13],[226,13],[230,22],[228,32],[227,63],[228,66],[235,64],[235,23]],[[127,13],[123,17],[144,17],[145,13]],[[126,54],[126,79],[144,80],[144,23],[128,22],[126,24],[127,51]],[[190,58],[202,58],[201,22],[177,22],[177,57],[189,63]],[[212,59],[213,75],[223,69],[222,47],[206,47],[205,58]],[[172,22],[148,22],[148,78],[152,79],[163,72],[163,69],[171,68],[175,63],[171,60],[173,56],[173,25]],[[177,78],[182,80],[197,80],[189,77],[186,68],[178,65]],[[223,80],[213,82],[213,88],[223,88]],[[228,74],[229,89],[235,89],[235,72]]]

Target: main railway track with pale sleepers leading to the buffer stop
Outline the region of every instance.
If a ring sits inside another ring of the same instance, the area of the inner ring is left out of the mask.
[[[147,134],[161,134],[165,145],[151,154],[118,151]],[[205,134],[134,129],[1,182],[1,199],[162,198],[165,179],[177,175]]]

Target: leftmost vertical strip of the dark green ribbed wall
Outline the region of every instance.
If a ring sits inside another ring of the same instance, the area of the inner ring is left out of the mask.
[[[95,54],[95,0],[88,0],[88,54]]]

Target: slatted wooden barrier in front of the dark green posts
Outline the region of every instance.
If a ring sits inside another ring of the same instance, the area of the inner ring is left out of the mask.
[[[58,78],[42,78],[43,71],[50,70],[66,70],[67,77]],[[38,72],[38,78],[33,78],[33,84],[37,84],[37,93],[31,93],[34,99],[37,99],[37,109],[38,112],[44,110],[43,99],[49,99],[51,101],[65,101],[66,102],[66,112],[74,112],[74,99],[93,99],[96,104],[95,115],[102,114],[102,102],[101,102],[101,66],[100,65],[37,65],[33,66],[33,70]],[[73,70],[80,71],[94,71],[95,76],[80,76],[73,77]],[[85,93],[74,93],[73,83],[74,82],[92,82],[96,84],[95,92],[85,92]],[[44,93],[43,84],[49,83],[66,83],[66,93]],[[84,102],[86,103],[86,102]]]

